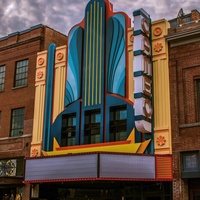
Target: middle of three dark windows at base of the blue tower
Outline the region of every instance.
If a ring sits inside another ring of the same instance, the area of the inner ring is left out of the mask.
[[[85,112],[84,144],[100,142],[100,109]]]

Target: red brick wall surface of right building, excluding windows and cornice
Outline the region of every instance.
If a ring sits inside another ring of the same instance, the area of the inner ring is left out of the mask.
[[[186,29],[181,28],[182,31]],[[173,31],[169,30],[171,33]],[[189,39],[182,41],[185,44],[169,48],[173,199],[176,200],[188,199],[187,180],[181,179],[180,152],[199,149],[200,144],[195,85],[195,79],[200,78],[200,41],[191,42]]]

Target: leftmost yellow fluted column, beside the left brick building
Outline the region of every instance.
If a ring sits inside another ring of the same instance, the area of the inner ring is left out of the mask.
[[[44,124],[44,103],[46,88],[46,68],[47,68],[47,51],[37,54],[36,76],[35,76],[35,105],[33,117],[33,134],[30,156],[36,157],[41,155],[43,124]]]

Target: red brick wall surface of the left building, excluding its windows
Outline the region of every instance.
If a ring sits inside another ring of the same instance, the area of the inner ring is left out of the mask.
[[[35,98],[35,67],[37,53],[47,50],[50,43],[66,45],[67,37],[55,30],[39,26],[0,40],[0,66],[6,65],[5,87],[0,92],[0,159],[30,156],[32,140],[33,112]],[[14,88],[15,63],[28,59],[28,85]],[[24,131],[22,137],[10,137],[11,110],[25,108]],[[1,177],[0,177],[1,179]],[[0,181],[2,182],[2,181]],[[1,186],[1,184],[0,184]],[[9,187],[9,185],[8,185]],[[28,200],[30,187],[23,187],[23,199]]]

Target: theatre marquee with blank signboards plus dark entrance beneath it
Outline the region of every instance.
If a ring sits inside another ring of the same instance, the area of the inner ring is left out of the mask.
[[[84,153],[26,159],[32,199],[172,199],[171,156]]]

